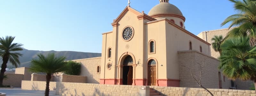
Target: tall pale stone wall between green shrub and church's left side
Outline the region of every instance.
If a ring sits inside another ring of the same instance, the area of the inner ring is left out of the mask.
[[[86,76],[87,83],[100,84],[100,74],[97,74],[97,66],[100,65],[101,57],[78,59],[72,61],[82,63],[80,76]]]

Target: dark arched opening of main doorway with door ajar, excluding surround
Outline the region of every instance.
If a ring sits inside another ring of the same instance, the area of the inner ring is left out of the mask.
[[[132,56],[127,55],[123,61],[123,85],[132,85],[133,75],[133,59]]]

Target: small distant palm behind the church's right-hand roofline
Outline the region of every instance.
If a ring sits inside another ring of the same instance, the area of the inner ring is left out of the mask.
[[[221,48],[220,48],[220,45],[223,41],[223,37],[220,35],[220,36],[214,36],[212,38],[212,48],[214,49],[214,51],[216,52],[219,52],[221,54]]]

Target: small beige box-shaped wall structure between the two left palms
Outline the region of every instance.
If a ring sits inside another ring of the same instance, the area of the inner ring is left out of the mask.
[[[27,67],[21,67],[21,68],[16,68],[15,74],[23,74],[24,75],[23,80],[30,80],[32,72],[30,72],[29,68]]]

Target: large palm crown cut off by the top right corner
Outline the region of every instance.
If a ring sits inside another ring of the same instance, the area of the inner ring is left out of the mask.
[[[250,37],[251,46],[256,45],[256,0],[229,0],[235,3],[234,8],[237,14],[229,16],[224,20],[221,26],[231,23],[229,28],[232,29],[230,36],[244,36]]]

